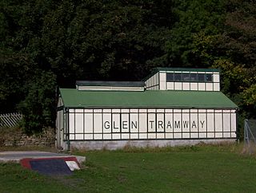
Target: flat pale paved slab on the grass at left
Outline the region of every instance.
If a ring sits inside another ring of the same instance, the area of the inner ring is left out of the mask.
[[[53,152],[38,152],[38,151],[23,151],[23,152],[0,152],[0,162],[14,162],[19,163],[24,158],[51,158],[51,157],[73,157],[72,155],[64,153]],[[84,156],[74,156],[79,163],[86,160]]]

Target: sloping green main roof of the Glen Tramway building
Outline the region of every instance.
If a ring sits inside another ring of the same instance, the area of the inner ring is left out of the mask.
[[[60,89],[69,108],[238,108],[221,92],[205,91],[78,91]]]

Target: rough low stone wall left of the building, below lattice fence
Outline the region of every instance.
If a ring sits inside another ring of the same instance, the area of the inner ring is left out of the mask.
[[[45,128],[38,135],[27,136],[19,128],[1,128],[0,146],[38,146],[54,147],[55,133],[53,128]]]

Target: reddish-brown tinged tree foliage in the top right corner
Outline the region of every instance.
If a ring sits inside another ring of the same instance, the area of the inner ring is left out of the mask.
[[[256,65],[256,2],[228,1],[226,10],[220,48],[232,61],[251,68]]]

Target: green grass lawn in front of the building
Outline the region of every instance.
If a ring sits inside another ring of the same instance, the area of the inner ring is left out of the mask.
[[[227,144],[74,152],[86,163],[68,177],[2,163],[0,192],[254,192],[256,159],[239,152]]]

